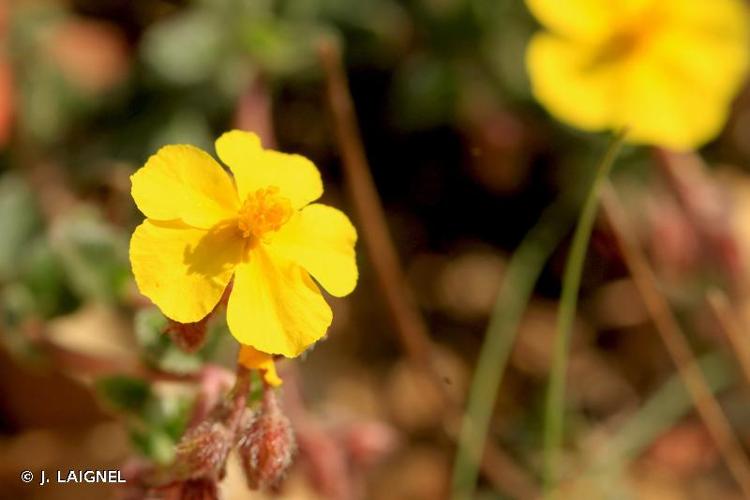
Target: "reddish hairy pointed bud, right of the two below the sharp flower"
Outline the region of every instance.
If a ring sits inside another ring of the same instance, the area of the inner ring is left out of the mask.
[[[248,414],[243,422],[238,449],[251,489],[276,486],[291,465],[296,450],[294,433],[270,388],[265,390],[260,412]]]

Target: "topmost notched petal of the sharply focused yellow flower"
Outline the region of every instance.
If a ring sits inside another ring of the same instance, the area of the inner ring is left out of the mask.
[[[310,160],[264,150],[253,133],[225,133],[216,141],[216,152],[232,170],[242,200],[258,189],[276,186],[294,208],[302,208],[323,194],[320,172]]]

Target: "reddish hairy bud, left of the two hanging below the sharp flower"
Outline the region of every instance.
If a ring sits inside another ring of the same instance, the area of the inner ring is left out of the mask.
[[[190,479],[221,477],[230,441],[231,433],[222,422],[204,420],[190,429],[177,445],[177,474]]]

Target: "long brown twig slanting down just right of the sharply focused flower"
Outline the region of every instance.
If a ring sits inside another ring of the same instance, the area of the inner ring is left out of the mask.
[[[328,85],[328,104],[343,159],[346,185],[354,205],[362,239],[390,311],[401,344],[415,365],[425,370],[445,398],[448,421],[457,422],[461,408],[447,393],[432,365],[432,342],[424,317],[408,293],[406,279],[386,222],[385,211],[372,179],[354,111],[341,53],[333,40],[319,44],[320,59]],[[456,436],[451,435],[452,439]],[[536,498],[538,488],[515,461],[487,444],[481,462],[487,479],[514,498]]]

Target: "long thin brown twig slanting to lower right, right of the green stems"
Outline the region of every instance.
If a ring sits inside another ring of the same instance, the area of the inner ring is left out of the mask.
[[[631,229],[625,211],[611,184],[602,190],[602,204],[625,263],[633,276],[656,330],[661,335],[678,373],[693,399],[698,414],[746,498],[750,498],[750,462],[732,427],[700,371],[690,346],[666,299],[659,292],[656,277]]]

